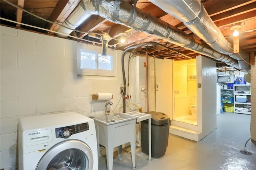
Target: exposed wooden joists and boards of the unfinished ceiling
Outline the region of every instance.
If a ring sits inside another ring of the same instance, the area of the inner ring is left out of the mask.
[[[13,5],[7,3],[6,0],[0,1],[1,25],[47,34],[49,36],[56,36],[51,30],[57,31],[58,28],[60,28],[60,25],[58,24],[62,24],[65,21],[80,3],[80,0],[8,0],[8,2]],[[126,0],[126,2],[130,5],[134,5],[135,1]],[[230,30],[230,27],[234,24],[240,24],[240,50],[248,53],[249,56],[256,55],[256,0],[202,0],[201,2],[210,18],[221,30],[228,42],[233,43],[233,31]],[[198,38],[198,36],[184,26],[180,20],[167,14],[150,1],[138,0],[135,4],[136,8],[140,8],[151,16],[155,16],[164,22],[175,26],[182,32],[192,36],[196,42],[208,46],[206,42]],[[11,22],[10,20],[14,22]],[[35,28],[31,26],[35,26]],[[41,28],[44,28],[44,30]],[[110,35],[108,47],[113,49],[125,50],[127,47],[143,42],[158,42],[168,47],[167,49],[161,46],[142,46],[140,49],[133,51],[141,56],[148,55],[149,57],[153,56],[158,58],[184,60],[189,59],[185,56],[195,58],[196,56],[201,55],[197,52],[172,44],[152,34],[134,30],[125,25],[115,24],[98,15],[91,15],[80,24],[76,30],[79,30],[80,32],[73,31],[70,34],[72,37],[68,37],[68,39],[88,44],[95,44],[94,42],[96,42],[95,45],[100,45],[97,44],[101,43],[97,35],[98,33],[106,32]],[[89,34],[89,32],[96,34]],[[118,41],[121,37],[121,33],[125,33],[127,38],[127,41],[124,44],[121,44]],[[185,56],[183,54],[185,54]],[[225,65],[220,61],[217,61],[216,63],[217,66]]]

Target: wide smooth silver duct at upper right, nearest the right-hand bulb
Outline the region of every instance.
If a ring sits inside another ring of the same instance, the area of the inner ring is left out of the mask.
[[[200,0],[150,0],[150,2],[182,21],[214,50],[238,60],[242,70],[250,70],[249,55],[242,50],[234,54],[233,45],[214,24]]]

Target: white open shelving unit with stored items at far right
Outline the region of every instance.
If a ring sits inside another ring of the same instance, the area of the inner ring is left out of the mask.
[[[251,112],[240,112],[236,110],[236,107],[239,107],[241,109],[246,109],[251,106],[250,98],[250,84],[234,84],[233,90],[234,90],[234,112],[235,113],[242,113],[242,114],[251,114]],[[238,93],[238,92],[244,92],[244,93]],[[237,96],[241,96],[242,100],[244,101],[237,101]],[[249,102],[248,102],[249,101]]]

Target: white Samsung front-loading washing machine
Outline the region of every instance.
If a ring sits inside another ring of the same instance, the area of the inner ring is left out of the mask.
[[[19,120],[19,170],[98,170],[94,120],[76,112]]]

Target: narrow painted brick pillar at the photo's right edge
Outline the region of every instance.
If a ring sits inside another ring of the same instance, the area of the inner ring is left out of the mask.
[[[254,63],[256,54],[254,53]],[[251,66],[251,138],[256,142],[256,65]]]

